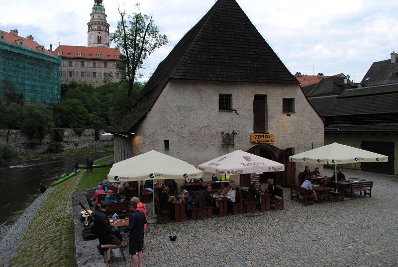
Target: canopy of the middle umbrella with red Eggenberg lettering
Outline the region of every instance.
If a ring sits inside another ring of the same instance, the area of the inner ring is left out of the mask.
[[[235,150],[200,164],[199,170],[214,174],[241,175],[257,172],[283,172],[285,165],[242,150]]]

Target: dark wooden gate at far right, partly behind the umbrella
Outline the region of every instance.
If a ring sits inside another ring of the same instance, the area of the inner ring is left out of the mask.
[[[362,141],[361,148],[389,157],[388,162],[361,163],[361,171],[394,175],[394,142]]]

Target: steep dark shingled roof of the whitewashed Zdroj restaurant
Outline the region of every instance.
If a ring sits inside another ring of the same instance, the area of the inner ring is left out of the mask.
[[[169,79],[298,84],[235,0],[218,0],[178,42],[115,132],[144,118]]]

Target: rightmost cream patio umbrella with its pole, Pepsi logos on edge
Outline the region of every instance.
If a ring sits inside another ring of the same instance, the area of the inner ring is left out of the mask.
[[[337,164],[356,162],[387,162],[388,156],[367,150],[333,143],[323,147],[308,150],[289,157],[292,162],[311,162],[334,164],[335,181],[337,181]]]

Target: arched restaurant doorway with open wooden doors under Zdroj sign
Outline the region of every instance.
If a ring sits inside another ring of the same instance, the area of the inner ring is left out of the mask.
[[[264,173],[260,175],[260,186],[266,186],[268,179],[273,179],[277,184],[280,185],[289,185],[290,183],[296,183],[295,181],[295,172],[296,172],[296,164],[294,162],[289,161],[289,156],[294,155],[294,148],[280,149],[271,144],[258,144],[252,146],[248,153],[276,161],[285,165],[284,172],[270,172]],[[240,176],[240,186],[247,187],[250,185],[249,175],[241,175]]]

